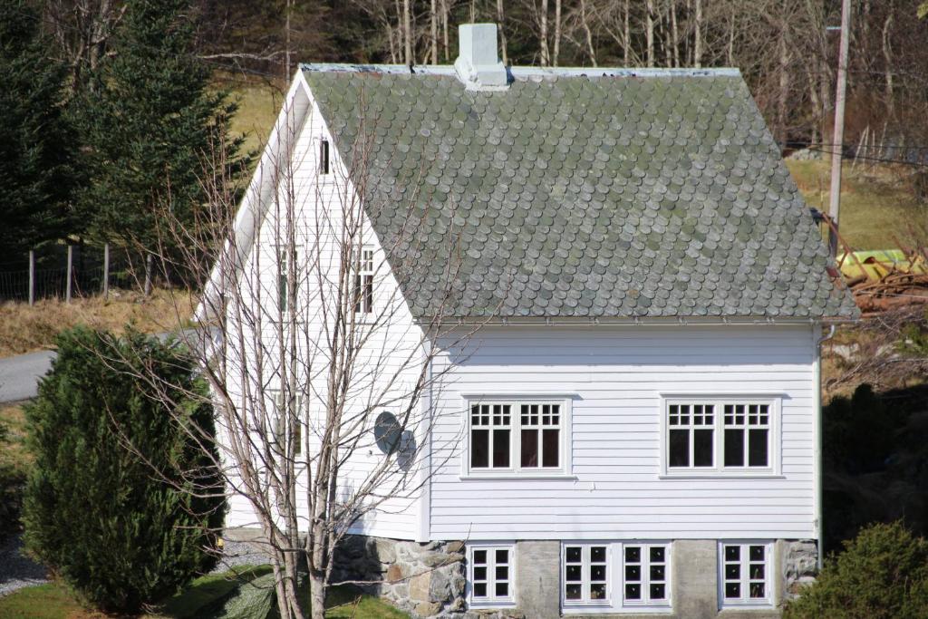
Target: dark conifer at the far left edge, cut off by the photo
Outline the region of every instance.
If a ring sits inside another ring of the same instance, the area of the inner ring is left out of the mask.
[[[77,142],[61,106],[64,67],[48,58],[41,19],[24,0],[0,0],[0,259],[24,260],[75,220]]]

